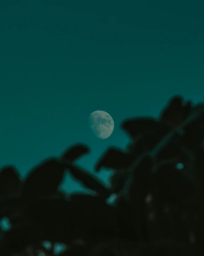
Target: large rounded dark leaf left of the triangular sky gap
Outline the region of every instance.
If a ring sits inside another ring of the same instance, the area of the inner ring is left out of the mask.
[[[37,165],[23,183],[24,197],[36,197],[56,192],[66,168],[66,164],[55,158]]]

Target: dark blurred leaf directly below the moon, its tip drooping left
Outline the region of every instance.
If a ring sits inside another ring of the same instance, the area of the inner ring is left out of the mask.
[[[101,168],[105,167],[118,171],[128,168],[132,161],[131,155],[116,148],[109,148],[96,164],[95,170],[99,172]]]

